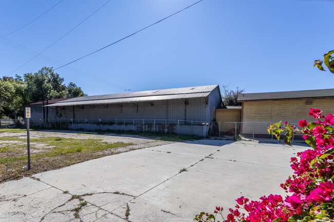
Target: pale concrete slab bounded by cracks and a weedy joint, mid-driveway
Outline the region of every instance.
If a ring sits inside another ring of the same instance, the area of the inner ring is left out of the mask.
[[[53,170],[35,177],[70,193],[124,192],[137,196],[199,157],[135,150]],[[89,178],[89,179],[87,179]]]

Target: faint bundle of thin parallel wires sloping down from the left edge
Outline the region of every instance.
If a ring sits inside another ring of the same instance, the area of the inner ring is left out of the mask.
[[[38,55],[38,54],[39,54],[38,52],[36,52],[36,51],[34,51],[34,50],[32,50],[32,49],[26,47],[26,46],[23,46],[23,45],[21,45],[21,44],[18,44],[18,43],[14,42],[14,41],[11,41],[11,40],[8,39],[8,38],[0,37],[0,43],[3,43],[3,44],[5,44],[5,45],[7,45],[7,46],[10,46],[10,47],[12,47],[12,48],[14,48],[14,49],[20,50],[20,51],[22,51],[22,52],[24,52],[24,53],[27,53],[27,54],[29,54],[29,55],[32,55],[32,56],[37,55],[37,57],[39,57],[40,59],[45,60],[46,62],[49,62],[49,63],[51,63],[51,64],[55,64],[55,65],[57,65],[57,66],[62,66],[62,65],[64,65],[64,63],[61,63],[61,62],[59,62],[58,60],[55,60],[55,59],[50,58],[50,57],[48,57],[48,56],[45,56],[45,55],[43,55],[43,54]],[[125,90],[124,87],[122,87],[122,86],[119,86],[119,85],[110,83],[110,82],[108,82],[108,81],[105,80],[105,79],[99,78],[99,77],[97,77],[97,76],[95,76],[95,75],[91,75],[91,74],[89,74],[89,73],[87,73],[87,72],[83,72],[83,71],[81,71],[81,70],[79,70],[79,69],[76,69],[76,68],[73,68],[73,67],[71,67],[71,66],[67,66],[67,67],[65,67],[65,69],[68,70],[68,71],[70,71],[70,72],[79,74],[79,75],[84,75],[84,76],[86,76],[87,78],[94,79],[96,82],[103,83],[103,84],[105,84],[105,85],[107,85],[107,86],[112,86],[112,87],[115,87],[115,88],[118,88],[118,89]]]

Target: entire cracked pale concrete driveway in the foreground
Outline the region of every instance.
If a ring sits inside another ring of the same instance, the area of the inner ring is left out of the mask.
[[[285,195],[290,157],[307,148],[198,140],[89,160],[0,184],[0,221],[193,221],[240,196]]]

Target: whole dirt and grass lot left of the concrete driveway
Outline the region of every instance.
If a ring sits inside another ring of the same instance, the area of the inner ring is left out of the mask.
[[[31,170],[27,171],[26,132],[0,132],[0,183],[86,160],[173,142],[139,135],[31,131]]]

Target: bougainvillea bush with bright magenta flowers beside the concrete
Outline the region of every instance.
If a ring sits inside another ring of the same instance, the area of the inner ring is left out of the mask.
[[[334,116],[322,114],[319,109],[310,109],[309,115],[314,122],[300,120],[299,126],[290,126],[281,122],[271,124],[268,132],[277,139],[281,135],[284,142],[291,146],[294,134],[301,134],[312,149],[297,153],[291,157],[292,176],[281,184],[287,196],[270,194],[259,200],[245,197],[236,199],[236,206],[223,212],[216,207],[213,214],[202,212],[195,221],[265,221],[265,222],[308,222],[334,221]],[[281,125],[283,125],[281,127]],[[224,217],[225,215],[225,217]]]

